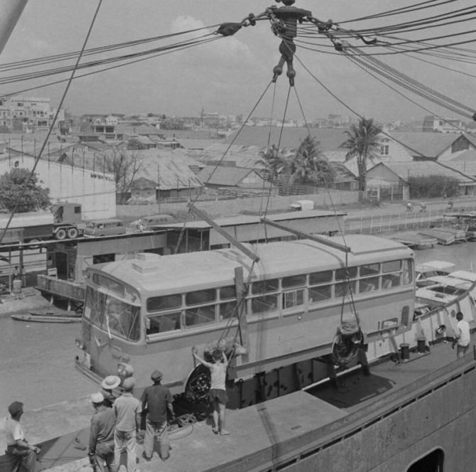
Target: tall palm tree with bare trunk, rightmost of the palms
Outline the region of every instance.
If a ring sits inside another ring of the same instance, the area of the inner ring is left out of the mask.
[[[372,118],[362,118],[357,124],[352,124],[350,131],[345,134],[349,136],[346,144],[349,148],[347,159],[357,156],[357,167],[359,168],[359,190],[367,189],[367,159],[372,157],[379,147],[379,134],[382,133],[382,127],[374,124]]]

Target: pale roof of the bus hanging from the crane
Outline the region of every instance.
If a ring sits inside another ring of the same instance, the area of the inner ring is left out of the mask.
[[[408,247],[379,237],[350,235],[345,238],[334,237],[332,240],[341,244],[345,242],[352,248],[347,256],[350,266],[413,257]],[[247,247],[260,258],[254,264],[251,280],[345,267],[344,252],[311,240],[271,242]],[[235,248],[167,256],[142,255],[145,259],[98,264],[93,270],[100,269],[104,274],[110,274],[139,291],[153,291],[160,295],[173,293],[180,287],[193,291],[232,285],[234,269],[240,266],[244,269],[246,281],[252,264],[249,257]]]

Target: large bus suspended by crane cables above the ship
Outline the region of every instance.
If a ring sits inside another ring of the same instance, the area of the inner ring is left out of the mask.
[[[148,385],[151,372],[159,369],[163,384],[180,393],[196,371],[191,347],[202,353],[228,336],[247,350],[230,363],[232,382],[294,366],[302,388],[316,378],[308,372],[312,366],[296,370],[296,365],[331,355],[342,323],[358,321],[363,345],[381,341],[389,330],[409,330],[413,252],[367,235],[323,238],[349,251],[295,240],[245,245],[258,262],[228,248],[140,253],[89,267],[76,367],[96,383],[134,372],[138,387]],[[295,371],[286,375],[295,378]],[[291,385],[288,392],[296,388]]]

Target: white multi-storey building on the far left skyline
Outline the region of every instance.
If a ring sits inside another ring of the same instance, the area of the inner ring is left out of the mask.
[[[56,111],[51,107],[49,98],[23,95],[3,97],[0,99],[0,127],[8,128],[9,132],[46,133],[53,123]],[[65,113],[61,109],[53,132],[60,132],[64,121]]]

